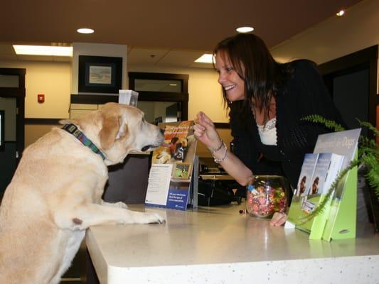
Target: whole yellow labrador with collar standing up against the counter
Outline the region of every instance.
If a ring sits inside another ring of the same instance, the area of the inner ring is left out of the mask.
[[[26,148],[0,207],[0,283],[59,283],[85,229],[100,224],[163,223],[156,213],[133,212],[101,197],[107,165],[163,142],[139,109],[105,104],[61,121]]]

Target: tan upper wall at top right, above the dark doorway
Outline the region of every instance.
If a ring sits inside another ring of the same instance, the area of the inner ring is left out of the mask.
[[[308,58],[321,64],[377,45],[378,27],[379,1],[364,0],[347,9],[344,16],[333,16],[271,51],[280,62]]]

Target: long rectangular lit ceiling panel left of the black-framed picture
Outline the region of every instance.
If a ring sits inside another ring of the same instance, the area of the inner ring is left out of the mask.
[[[46,55],[73,57],[72,46],[13,45],[18,55]]]

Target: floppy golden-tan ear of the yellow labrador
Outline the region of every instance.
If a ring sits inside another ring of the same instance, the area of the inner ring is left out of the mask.
[[[107,116],[102,122],[100,130],[100,144],[103,149],[111,148],[119,138],[127,135],[127,124],[122,122],[121,116]]]

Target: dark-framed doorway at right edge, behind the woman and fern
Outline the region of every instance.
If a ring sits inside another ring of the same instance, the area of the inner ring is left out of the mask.
[[[361,127],[357,119],[375,126],[379,103],[376,92],[378,45],[321,64],[319,70],[348,129]],[[365,128],[361,134],[373,138]],[[373,188],[364,184],[363,178],[363,186],[358,186],[358,221],[363,221],[365,214],[368,214],[370,222],[374,223],[375,232],[379,233],[378,197]]]

